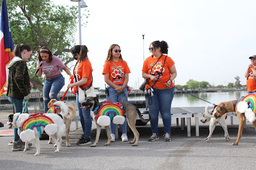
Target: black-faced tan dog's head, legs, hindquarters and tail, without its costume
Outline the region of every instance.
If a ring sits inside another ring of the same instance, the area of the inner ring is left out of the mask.
[[[123,113],[127,118],[127,123],[128,123],[128,125],[129,125],[129,127],[130,127],[130,129],[131,129],[131,131],[133,132],[133,135],[134,135],[133,140],[129,143],[132,144],[132,146],[137,146],[138,138],[139,138],[139,133],[136,130],[136,127],[135,127],[137,114],[138,114],[138,117],[141,119],[141,121],[145,122],[145,123],[150,120],[150,116],[149,116],[149,119],[143,119],[141,117],[141,114],[140,114],[137,107],[135,107],[135,106],[133,106],[132,104],[129,104],[129,103],[121,103],[121,104],[123,106]],[[100,104],[100,105],[102,105],[102,104]],[[97,106],[100,106],[100,105],[98,103],[98,98],[97,97],[87,97],[87,98],[85,98],[85,102],[82,103],[82,106],[84,106],[83,107],[84,110],[90,109],[91,111],[94,111],[95,108]],[[98,113],[98,110],[96,110],[94,112],[94,115],[97,115],[97,113]],[[96,130],[95,142],[90,147],[95,147],[96,146],[96,144],[98,142],[98,139],[99,139],[100,131],[101,131],[101,126],[99,126],[97,124],[97,121],[95,119],[93,119],[93,120],[97,125],[97,130]],[[106,135],[107,135],[107,143],[105,143],[104,146],[110,145],[110,139],[111,139],[109,126],[105,126],[105,130],[106,130]]]

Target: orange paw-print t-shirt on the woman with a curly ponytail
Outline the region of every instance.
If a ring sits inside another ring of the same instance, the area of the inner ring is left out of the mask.
[[[166,55],[162,55],[160,59],[153,58],[152,56],[147,57],[143,63],[142,71],[144,71],[147,74],[150,74],[150,72],[151,72],[151,75],[154,75],[156,78],[158,78],[158,76],[159,76],[158,74],[161,72],[165,56]],[[157,63],[155,63],[156,61],[157,61]],[[172,59],[169,56],[167,56],[165,63],[163,65],[162,74],[159,76],[159,80],[161,80],[165,83],[168,81],[168,79],[170,78],[170,75],[171,75],[169,68],[173,64],[174,64],[174,62],[172,61]],[[165,84],[160,81],[156,81],[156,82],[153,81],[153,82],[154,82],[154,85],[159,89],[163,89],[165,87]],[[153,85],[151,79],[148,80],[148,83],[150,86]],[[171,86],[174,86],[173,82],[171,82]],[[172,88],[171,86],[169,88]],[[155,88],[154,86],[152,86],[152,87]],[[168,86],[166,86],[165,88],[168,88]]]

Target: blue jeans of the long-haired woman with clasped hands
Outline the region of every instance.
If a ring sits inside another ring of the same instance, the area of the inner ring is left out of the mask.
[[[118,85],[118,86],[122,86],[122,85]],[[125,87],[123,89],[124,93],[117,93],[116,90],[114,90],[114,88],[110,87],[107,85],[107,89],[108,89],[108,93],[109,95],[106,96],[106,100],[110,101],[110,102],[119,102],[119,103],[127,103],[127,98],[128,98],[128,92],[127,92],[127,87]],[[125,94],[125,96],[124,96]],[[124,123],[121,125],[121,130],[122,130],[122,134],[126,134],[126,126],[127,126],[127,119],[125,118]],[[110,123],[110,133],[114,134],[114,128],[115,128],[115,124]]]

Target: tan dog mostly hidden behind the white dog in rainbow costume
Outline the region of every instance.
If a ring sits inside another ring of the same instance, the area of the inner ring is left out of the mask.
[[[47,107],[49,108],[51,105],[53,105],[53,103],[57,102],[56,99],[51,99],[47,105]],[[55,105],[54,105],[55,106]],[[73,106],[67,106],[68,109],[71,110],[71,114],[67,114],[63,117],[63,122],[66,126],[66,146],[67,147],[70,147],[71,145],[69,144],[69,138],[68,138],[68,135],[69,135],[69,132],[70,132],[70,124],[71,124],[71,120],[74,118],[75,114],[76,114],[76,110]],[[60,114],[61,110],[58,109],[56,111],[56,114]],[[49,142],[48,144],[52,144],[52,139],[51,137],[49,137]]]

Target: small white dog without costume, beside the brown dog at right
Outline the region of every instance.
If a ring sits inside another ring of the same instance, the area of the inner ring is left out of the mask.
[[[210,115],[209,112],[212,112],[213,110],[209,110],[208,111],[208,106],[205,107],[205,112],[203,113],[202,115],[202,119],[201,119],[201,122],[202,123],[206,123],[206,122],[209,122],[210,121],[210,125],[209,125],[209,135],[208,137],[206,138],[206,142],[209,142],[210,140],[210,137],[216,127],[216,124],[218,123],[219,125],[221,125],[221,127],[223,128],[224,130],[224,136],[225,136],[225,139],[226,141],[229,141],[229,136],[228,136],[228,132],[227,132],[227,127],[226,127],[226,124],[225,124],[225,116],[226,114],[222,115],[221,117],[219,118],[215,118],[213,115]]]

